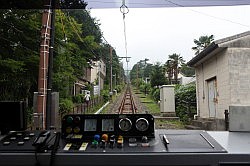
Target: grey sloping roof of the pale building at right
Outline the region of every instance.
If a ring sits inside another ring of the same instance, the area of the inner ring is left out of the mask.
[[[250,31],[212,42],[206,49],[191,59],[187,65],[195,67],[226,48],[250,48]]]

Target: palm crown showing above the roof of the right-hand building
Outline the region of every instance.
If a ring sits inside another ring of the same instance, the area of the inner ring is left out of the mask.
[[[207,48],[212,41],[214,41],[214,35],[200,36],[199,40],[194,39],[194,44],[196,44],[196,46],[192,47],[192,50],[196,51],[195,55],[198,55],[201,51]]]

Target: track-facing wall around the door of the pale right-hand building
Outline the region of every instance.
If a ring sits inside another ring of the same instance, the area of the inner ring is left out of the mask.
[[[216,78],[217,102],[216,118],[224,119],[224,110],[228,109],[229,74],[227,50],[214,55],[213,58],[196,68],[198,112],[202,118],[209,118],[207,81]]]

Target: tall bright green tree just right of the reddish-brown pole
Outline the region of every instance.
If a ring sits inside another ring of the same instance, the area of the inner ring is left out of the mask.
[[[93,28],[95,19],[86,10],[58,10],[56,14],[58,51],[54,58],[53,88],[61,98],[71,98],[74,82],[82,79],[89,63],[101,58],[101,32],[99,27]],[[95,30],[89,31],[90,27]]]

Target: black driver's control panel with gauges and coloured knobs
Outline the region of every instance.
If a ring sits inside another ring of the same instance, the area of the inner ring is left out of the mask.
[[[63,152],[134,152],[153,148],[154,138],[150,114],[74,114],[62,119]]]

